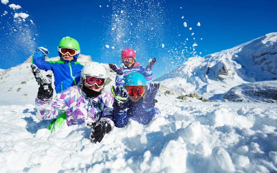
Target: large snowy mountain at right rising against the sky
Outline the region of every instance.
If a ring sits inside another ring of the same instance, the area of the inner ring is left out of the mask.
[[[197,92],[210,98],[240,84],[276,79],[277,32],[228,50],[189,58],[156,81],[177,92]]]

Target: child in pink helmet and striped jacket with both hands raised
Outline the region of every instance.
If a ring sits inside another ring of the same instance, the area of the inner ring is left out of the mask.
[[[152,67],[156,62],[156,58],[149,60],[145,67],[136,62],[136,54],[133,49],[127,48],[121,52],[121,61],[123,66],[117,68],[115,64],[109,64],[110,68],[116,72],[116,86],[123,87],[124,76],[130,72],[139,72],[143,74],[146,79],[146,83],[149,86],[152,82]]]

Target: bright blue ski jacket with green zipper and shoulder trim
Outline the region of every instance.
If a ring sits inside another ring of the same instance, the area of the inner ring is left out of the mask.
[[[78,55],[73,60],[45,61],[45,55],[37,50],[32,56],[32,63],[39,69],[52,70],[54,74],[54,85],[56,93],[60,93],[71,86],[77,86],[80,81],[83,65],[77,62]]]

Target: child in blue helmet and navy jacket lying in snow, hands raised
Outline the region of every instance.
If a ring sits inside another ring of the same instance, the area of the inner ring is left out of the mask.
[[[113,120],[116,127],[124,127],[129,119],[140,124],[149,123],[160,111],[155,108],[155,96],[160,84],[150,84],[147,90],[144,76],[132,72],[125,76],[124,87],[111,87],[114,95]]]

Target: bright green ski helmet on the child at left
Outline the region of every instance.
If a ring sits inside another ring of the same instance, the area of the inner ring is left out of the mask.
[[[78,43],[77,40],[75,40],[74,38],[71,38],[71,37],[63,37],[58,45],[58,53],[61,57],[61,53],[59,51],[59,48],[61,47],[67,47],[67,48],[72,48],[72,49],[75,49],[76,50],[76,53],[77,55],[74,55],[76,56],[76,58],[78,58],[79,56],[79,53],[80,53],[80,45]],[[75,59],[75,57],[74,57]]]

